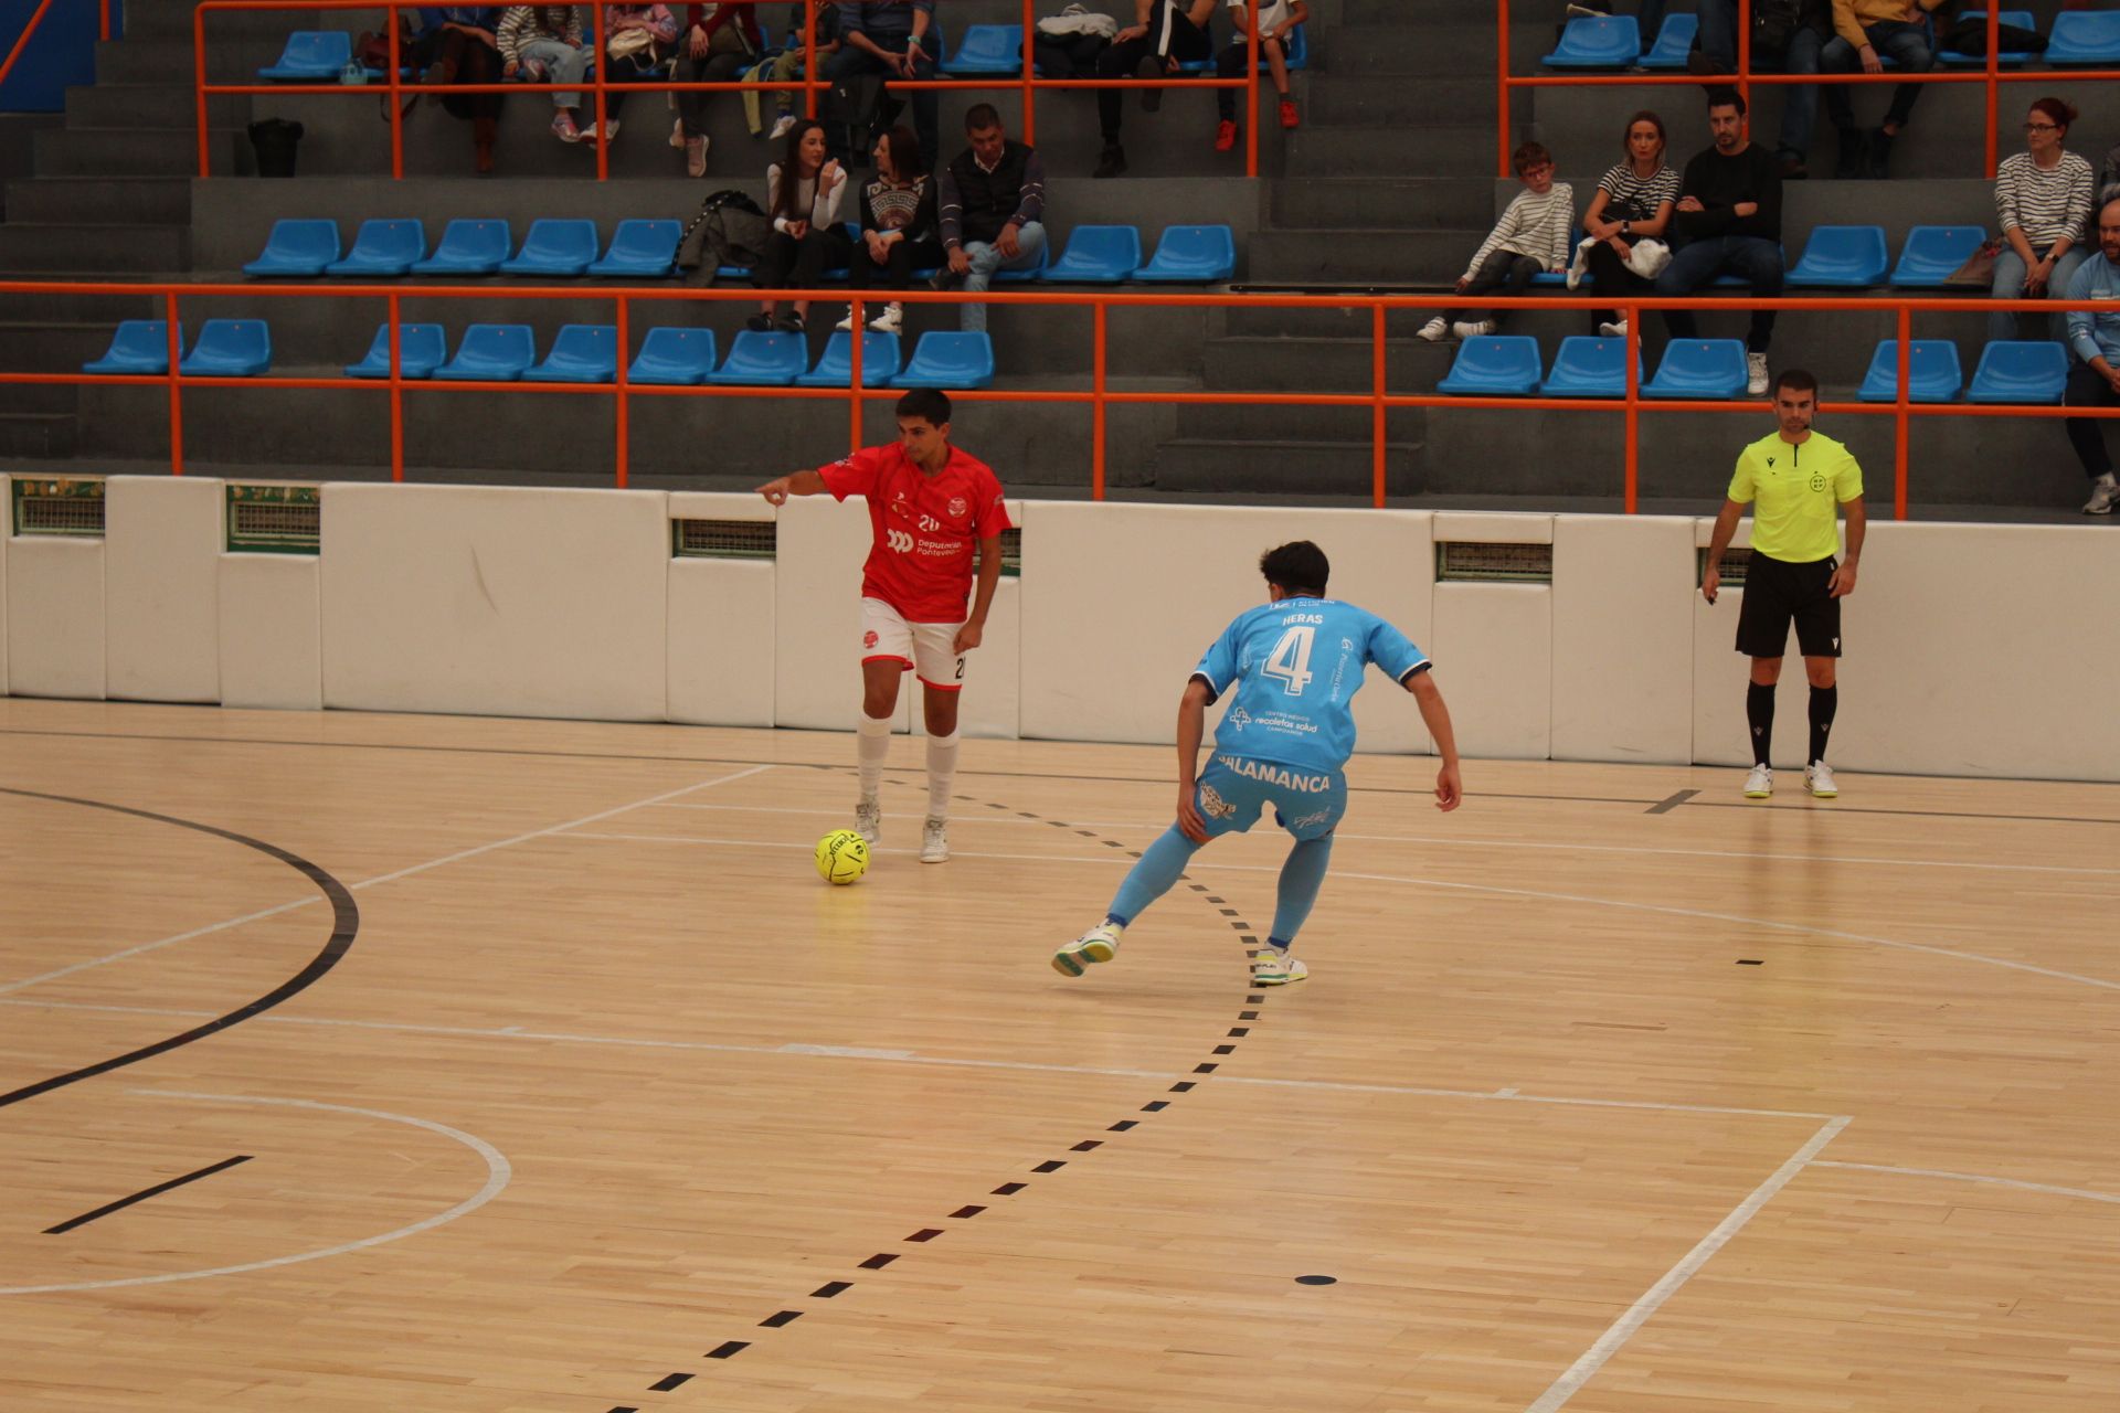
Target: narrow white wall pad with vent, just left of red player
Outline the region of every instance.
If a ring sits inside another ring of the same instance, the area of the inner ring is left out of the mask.
[[[681,491],[670,496],[670,519],[772,521],[774,508],[763,496]],[[776,570],[772,559],[672,555],[670,720],[774,725]]]

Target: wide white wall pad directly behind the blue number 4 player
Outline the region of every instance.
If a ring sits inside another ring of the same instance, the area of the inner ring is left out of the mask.
[[[1429,648],[1427,513],[1039,502],[1024,532],[1022,733],[1170,741],[1194,665],[1266,602],[1259,555],[1287,540],[1317,540],[1333,597]],[[1412,701],[1376,674],[1355,722],[1365,752],[1427,748]]]

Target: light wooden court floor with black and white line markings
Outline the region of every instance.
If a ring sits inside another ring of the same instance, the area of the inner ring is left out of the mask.
[[[0,1409],[2120,1409],[2120,790],[918,750],[0,701]]]

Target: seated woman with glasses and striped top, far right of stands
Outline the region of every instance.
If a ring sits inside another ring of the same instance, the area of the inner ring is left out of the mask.
[[[2090,220],[2090,163],[2063,150],[2075,108],[2042,97],[2025,114],[2025,148],[1995,174],[2001,252],[1995,256],[1995,299],[2046,299],[2069,288],[2084,263]],[[2067,316],[2052,316],[2054,339],[2067,339]],[[1991,314],[1989,339],[2014,339],[2016,316]]]

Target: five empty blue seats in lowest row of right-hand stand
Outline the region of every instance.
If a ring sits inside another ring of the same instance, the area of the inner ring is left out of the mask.
[[[1721,400],[1745,392],[1745,343],[1741,339],[1673,339],[1656,377],[1637,388],[1645,398]],[[1995,341],[1980,350],[1969,403],[2061,403],[2069,377],[2069,352],[2050,341]],[[1965,375],[1959,350],[1946,339],[1914,339],[1908,398],[1948,403],[1959,396]],[[1435,386],[1452,396],[1626,396],[1626,339],[1569,337],[1554,354],[1552,371],[1539,366],[1539,341],[1524,335],[1465,339],[1450,373]],[[1893,403],[1900,396],[1900,345],[1885,339],[1870,358],[1857,396],[1863,403]]]

